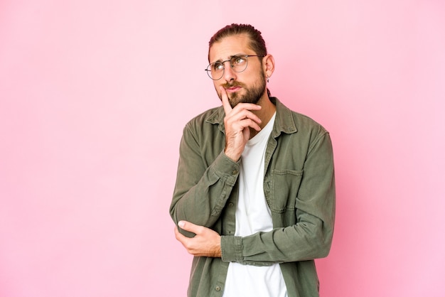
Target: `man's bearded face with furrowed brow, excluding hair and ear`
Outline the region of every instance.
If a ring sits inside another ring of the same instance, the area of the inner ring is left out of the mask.
[[[233,55],[239,54],[256,55],[249,47],[249,37],[245,34],[229,36],[218,43],[213,43],[209,51],[210,63],[229,60]],[[225,88],[232,108],[240,102],[256,104],[266,90],[264,70],[259,58],[247,59],[247,68],[243,72],[235,72],[230,63],[226,62],[223,77],[220,80],[213,80],[220,99],[222,97],[219,88],[220,86]]]

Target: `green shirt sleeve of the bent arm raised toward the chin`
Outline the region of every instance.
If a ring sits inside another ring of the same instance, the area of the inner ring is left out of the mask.
[[[195,225],[212,227],[218,220],[225,203],[232,193],[240,163],[228,158],[223,148],[212,163],[203,158],[205,144],[197,140],[194,129],[184,128],[181,139],[178,173],[170,206],[170,214],[177,224],[180,220]],[[181,233],[193,237],[193,233],[180,229]]]

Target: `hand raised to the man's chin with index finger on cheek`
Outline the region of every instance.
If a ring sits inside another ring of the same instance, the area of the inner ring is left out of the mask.
[[[261,119],[252,110],[259,110],[261,106],[252,103],[238,103],[232,109],[224,87],[220,87],[221,101],[225,111],[225,148],[227,157],[237,162],[250,139],[250,129],[261,130]]]

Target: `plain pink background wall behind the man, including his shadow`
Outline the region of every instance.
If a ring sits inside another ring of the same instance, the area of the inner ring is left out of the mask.
[[[269,88],[331,131],[324,297],[445,296],[445,2],[0,0],[0,296],[185,296],[168,215],[203,69],[262,31]]]

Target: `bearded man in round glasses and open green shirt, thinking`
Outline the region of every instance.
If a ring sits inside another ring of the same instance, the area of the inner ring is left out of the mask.
[[[183,131],[170,213],[193,254],[188,296],[318,296],[313,259],[331,248],[328,132],[267,89],[261,33],[232,24],[210,39],[206,69],[223,106]]]

